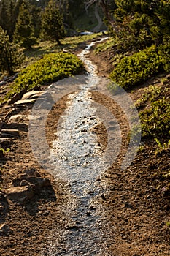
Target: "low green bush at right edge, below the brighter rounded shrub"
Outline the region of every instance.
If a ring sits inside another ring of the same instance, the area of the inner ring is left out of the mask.
[[[149,138],[154,142],[156,154],[167,152],[170,149],[169,85],[169,79],[162,78],[158,85],[144,89],[144,94],[135,103],[141,119],[142,138],[146,139],[145,141]]]

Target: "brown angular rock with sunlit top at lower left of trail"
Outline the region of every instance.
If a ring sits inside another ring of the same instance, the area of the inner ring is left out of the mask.
[[[5,191],[7,198],[15,203],[25,203],[34,196],[34,187],[10,187]]]

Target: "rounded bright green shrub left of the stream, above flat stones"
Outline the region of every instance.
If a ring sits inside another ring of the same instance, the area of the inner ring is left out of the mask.
[[[31,90],[35,86],[77,75],[82,71],[82,68],[82,61],[72,53],[46,54],[42,59],[29,65],[19,73],[9,94],[20,92],[22,89]]]

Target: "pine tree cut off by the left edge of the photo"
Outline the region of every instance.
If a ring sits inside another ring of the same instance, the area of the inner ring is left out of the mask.
[[[19,50],[18,45],[9,42],[9,36],[0,26],[0,70],[7,71],[12,75],[15,68],[23,61],[23,53]]]

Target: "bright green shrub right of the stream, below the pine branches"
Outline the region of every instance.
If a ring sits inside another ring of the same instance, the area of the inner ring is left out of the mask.
[[[163,58],[157,53],[155,45],[152,45],[139,53],[121,59],[110,78],[124,89],[131,89],[161,70],[163,70]]]

